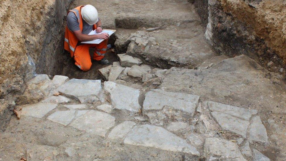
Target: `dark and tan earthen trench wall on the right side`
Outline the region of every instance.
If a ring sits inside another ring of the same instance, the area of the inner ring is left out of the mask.
[[[248,55],[285,78],[285,0],[189,0],[219,53]],[[282,69],[281,69],[282,68]]]

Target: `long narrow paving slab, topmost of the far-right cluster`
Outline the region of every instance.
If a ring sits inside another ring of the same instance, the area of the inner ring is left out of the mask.
[[[211,111],[227,113],[233,117],[237,117],[246,121],[249,121],[251,115],[257,114],[257,110],[244,109],[213,101],[207,101],[207,105]]]

